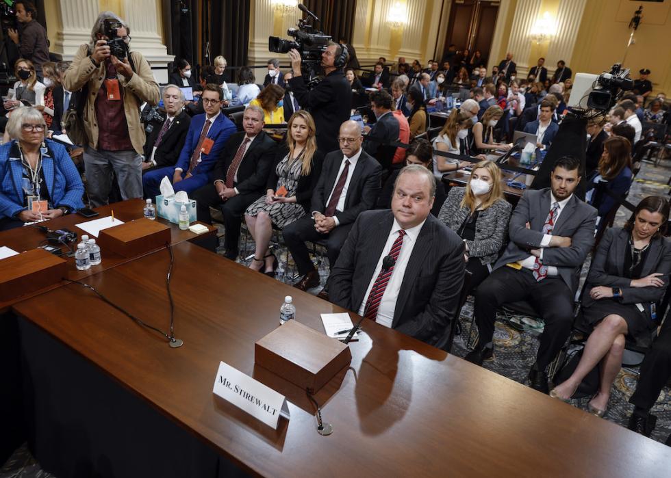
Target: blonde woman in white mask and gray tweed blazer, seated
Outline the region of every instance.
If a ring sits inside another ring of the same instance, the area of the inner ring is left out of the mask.
[[[492,161],[473,166],[466,187],[453,187],[438,220],[466,243],[469,293],[490,274],[505,245],[512,206],[503,198],[501,170]]]

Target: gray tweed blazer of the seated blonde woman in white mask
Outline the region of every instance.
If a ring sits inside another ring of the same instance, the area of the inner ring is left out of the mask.
[[[450,194],[438,214],[438,220],[455,231],[461,228],[461,224],[464,224],[466,217],[470,214],[468,208],[460,206],[464,194],[466,194],[465,187],[450,189]],[[479,258],[483,264],[496,261],[498,252],[501,251],[507,239],[508,220],[512,209],[509,202],[501,199],[480,211],[475,222],[475,240],[466,241],[470,257]]]

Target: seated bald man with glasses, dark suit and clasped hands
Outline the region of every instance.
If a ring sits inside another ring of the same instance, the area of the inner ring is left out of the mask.
[[[340,127],[340,150],[324,158],[312,194],[312,217],[301,217],[282,230],[302,278],[294,287],[305,291],[319,285],[319,273],[310,261],[305,241],[327,241],[331,268],[354,221],[375,206],[381,187],[381,166],[362,149],[361,128],[347,120]]]

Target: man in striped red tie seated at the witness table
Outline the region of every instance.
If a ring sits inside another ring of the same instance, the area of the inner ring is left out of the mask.
[[[392,210],[365,211],[357,218],[329,278],[329,297],[333,304],[442,348],[457,319],[464,242],[430,214],[434,196],[430,170],[403,168]]]

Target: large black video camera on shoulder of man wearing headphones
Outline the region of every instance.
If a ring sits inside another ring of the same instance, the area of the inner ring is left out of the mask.
[[[322,53],[329,46],[332,38],[323,31],[312,27],[310,18],[314,18],[315,21],[319,21],[319,18],[307,10],[305,5],[299,3],[299,9],[307,13],[308,18],[299,19],[298,28],[288,29],[287,34],[293,37],[294,40],[285,40],[277,36],[270,36],[268,37],[268,51],[289,53],[290,49],[298,50],[301,54],[301,73],[305,78],[305,83],[313,83],[319,74]]]

